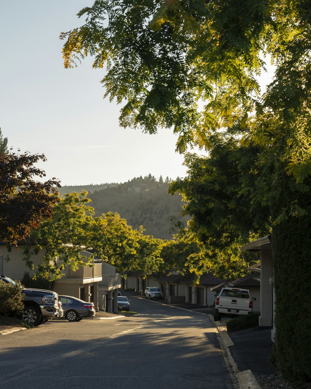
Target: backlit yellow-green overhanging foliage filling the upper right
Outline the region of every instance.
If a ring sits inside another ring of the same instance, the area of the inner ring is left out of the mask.
[[[252,122],[267,102],[287,119],[293,107],[308,116],[307,11],[307,0],[98,0],[78,13],[82,26],[61,33],[64,63],[94,56],[94,68],[106,67],[105,96],[124,102],[121,125],[172,127],[178,151],[208,147],[211,131]],[[277,67],[266,103],[256,79],[265,54]]]

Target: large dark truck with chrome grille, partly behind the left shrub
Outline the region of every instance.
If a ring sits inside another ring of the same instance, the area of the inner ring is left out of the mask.
[[[0,279],[4,282],[15,285],[15,282],[1,275]],[[58,317],[58,294],[44,289],[24,288],[24,309],[21,312],[20,319],[32,323],[34,326],[40,326],[44,321]]]

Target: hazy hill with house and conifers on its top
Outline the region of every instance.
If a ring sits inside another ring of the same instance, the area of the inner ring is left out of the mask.
[[[167,193],[169,184],[156,184],[149,189],[149,183],[127,182],[117,187],[108,187],[89,195],[90,204],[100,216],[108,211],[118,212],[133,228],[142,225],[145,234],[156,238],[171,239],[177,231],[169,233],[170,216],[180,217],[182,198],[180,195]],[[187,225],[189,218],[180,218]]]

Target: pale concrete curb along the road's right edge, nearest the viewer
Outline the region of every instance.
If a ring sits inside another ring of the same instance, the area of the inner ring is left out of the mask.
[[[212,315],[208,315],[208,316],[210,317],[211,322],[214,323],[218,329],[220,338],[224,343],[227,356],[229,358],[229,361],[232,365],[234,372],[236,373],[236,377],[238,378],[241,389],[261,389],[260,385],[258,384],[251,370],[239,371],[238,365],[234,361],[232,354],[229,350],[230,346],[234,346],[232,339],[230,338],[230,336],[228,335],[225,329],[221,329],[219,321],[215,322],[213,320]]]

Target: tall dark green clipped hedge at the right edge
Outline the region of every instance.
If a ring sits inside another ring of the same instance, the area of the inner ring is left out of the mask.
[[[310,193],[305,194],[310,202]],[[311,205],[308,214],[291,217],[273,228],[275,288],[274,354],[289,382],[311,382]]]

